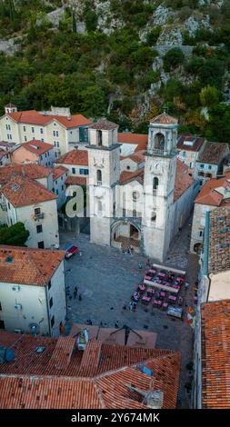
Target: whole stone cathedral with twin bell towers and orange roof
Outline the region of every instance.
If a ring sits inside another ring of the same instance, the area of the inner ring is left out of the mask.
[[[121,172],[117,127],[105,120],[89,127],[91,242],[164,261],[195,199],[194,179],[176,158],[177,120],[164,113],[150,122],[144,167],[135,171]]]

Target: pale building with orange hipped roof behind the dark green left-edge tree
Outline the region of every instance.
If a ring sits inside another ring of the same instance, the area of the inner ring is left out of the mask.
[[[44,185],[16,175],[1,187],[0,223],[24,223],[30,233],[26,241],[30,247],[58,247],[56,199]]]

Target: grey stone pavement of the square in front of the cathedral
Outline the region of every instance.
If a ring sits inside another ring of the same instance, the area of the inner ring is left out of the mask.
[[[197,261],[195,255],[186,254],[189,244],[189,223],[175,242],[167,259],[167,264],[186,268],[188,290],[182,291],[185,296],[185,312],[187,306],[193,302],[193,283],[197,277]],[[124,304],[130,302],[136,286],[145,274],[146,259],[138,254],[120,253],[115,248],[99,246],[89,242],[89,236],[73,233],[61,235],[61,247],[67,243],[77,244],[82,256],[75,255],[65,262],[67,305],[69,321],[65,325],[65,332],[69,333],[72,323],[85,323],[91,319],[93,324],[104,323],[106,327],[119,327],[127,324],[131,328],[157,333],[156,347],[182,352],[181,391],[179,406],[188,407],[188,397],[185,392],[185,383],[190,381],[186,364],[192,361],[193,330],[179,319],[171,318],[157,308],[137,304],[135,313],[124,310]],[[188,263],[187,263],[188,261]],[[143,264],[139,270],[138,264]],[[82,301],[74,298],[75,286]],[[186,294],[185,294],[186,293]]]

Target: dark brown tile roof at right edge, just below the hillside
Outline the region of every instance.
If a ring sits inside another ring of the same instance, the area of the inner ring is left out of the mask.
[[[199,156],[198,162],[204,164],[220,164],[228,153],[228,144],[207,143],[205,145],[205,150]]]

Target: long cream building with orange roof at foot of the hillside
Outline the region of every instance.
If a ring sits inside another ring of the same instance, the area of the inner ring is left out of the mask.
[[[71,115],[69,108],[51,107],[51,111],[17,111],[5,106],[0,118],[0,140],[23,144],[31,140],[47,141],[55,149],[55,157],[73,149],[75,144],[87,142],[90,124],[82,114]]]

